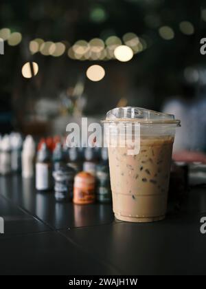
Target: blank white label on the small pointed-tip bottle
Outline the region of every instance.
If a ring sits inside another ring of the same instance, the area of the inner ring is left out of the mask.
[[[52,189],[52,169],[49,164],[36,164],[36,189],[39,191]]]

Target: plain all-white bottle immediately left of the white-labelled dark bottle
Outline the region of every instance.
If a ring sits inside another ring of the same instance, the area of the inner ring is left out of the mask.
[[[36,145],[32,136],[27,136],[23,142],[21,154],[22,177],[34,177],[34,159],[36,155]]]

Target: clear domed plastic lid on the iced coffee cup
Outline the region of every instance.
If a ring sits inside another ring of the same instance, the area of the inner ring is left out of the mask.
[[[141,122],[157,124],[174,124],[180,126],[180,120],[176,120],[172,114],[163,114],[140,107],[118,107],[111,109],[106,114],[104,122]]]

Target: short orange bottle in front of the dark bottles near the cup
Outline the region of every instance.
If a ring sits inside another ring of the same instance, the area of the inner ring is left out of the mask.
[[[91,204],[95,202],[95,177],[82,171],[74,179],[73,203]]]

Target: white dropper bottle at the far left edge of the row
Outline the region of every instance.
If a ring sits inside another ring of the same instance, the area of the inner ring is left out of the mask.
[[[10,136],[7,134],[1,139],[0,151],[0,173],[1,175],[8,175],[12,169]]]

